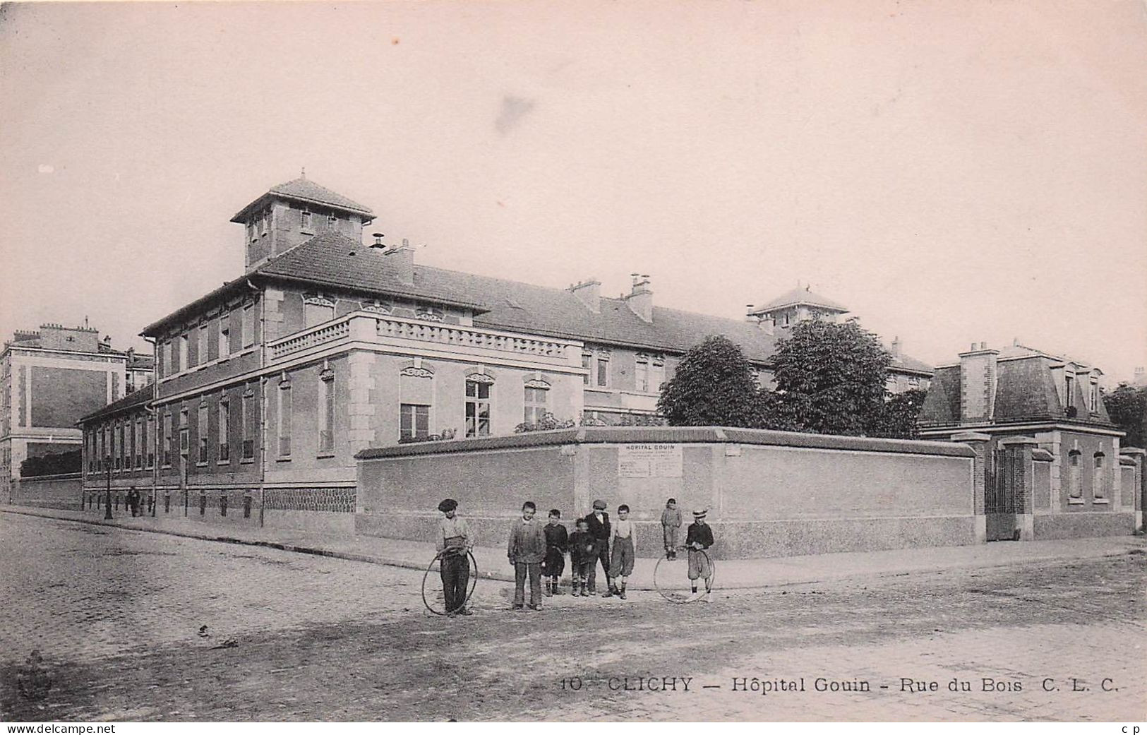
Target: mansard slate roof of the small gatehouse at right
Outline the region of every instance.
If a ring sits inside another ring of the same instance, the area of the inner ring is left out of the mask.
[[[990,416],[991,422],[1074,421],[1111,425],[1102,400],[1098,401],[1095,413],[1086,410],[1087,397],[1084,396],[1084,386],[1078,380],[1072,382],[1071,391],[1071,405],[1077,407],[1078,414],[1074,417],[1068,416],[1051,372],[1051,366],[1061,359],[1038,350],[1030,352],[1028,357],[1013,353],[1014,359],[997,362],[996,404]],[[960,366],[936,368],[928,397],[920,410],[921,424],[936,427],[960,423]]]

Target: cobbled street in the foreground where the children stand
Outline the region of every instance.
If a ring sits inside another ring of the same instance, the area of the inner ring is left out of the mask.
[[[712,604],[561,596],[540,613],[507,611],[509,586],[483,581],[477,615],[446,620],[423,611],[414,570],[11,514],[0,538],[3,719],[1147,713],[1147,555],[1134,552]],[[33,649],[33,679],[52,682],[38,699],[19,693]],[[951,691],[953,680],[970,690]]]

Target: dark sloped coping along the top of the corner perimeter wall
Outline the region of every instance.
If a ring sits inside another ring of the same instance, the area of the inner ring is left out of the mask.
[[[838,437],[765,429],[727,427],[582,427],[553,431],[530,431],[501,437],[420,441],[388,447],[372,447],[354,455],[357,460],[377,460],[420,454],[451,454],[482,449],[516,449],[570,444],[750,444],[813,449],[849,449],[890,454],[931,454],[936,456],[973,458],[975,452],[963,444],[921,441],[915,439],[872,439]]]

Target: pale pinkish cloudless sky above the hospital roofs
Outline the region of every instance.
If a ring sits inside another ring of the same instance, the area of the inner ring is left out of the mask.
[[[1142,0],[8,3],[0,334],[147,349],[305,167],[422,264],[734,319],[811,284],[933,365],[1126,380],[1145,69]]]

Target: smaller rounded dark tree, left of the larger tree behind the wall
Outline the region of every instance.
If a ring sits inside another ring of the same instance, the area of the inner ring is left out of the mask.
[[[657,399],[672,427],[759,427],[760,407],[752,367],[723,335],[689,349]]]

